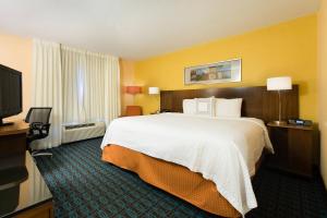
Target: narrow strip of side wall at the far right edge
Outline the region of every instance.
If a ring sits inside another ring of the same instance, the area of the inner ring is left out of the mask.
[[[320,129],[320,168],[327,186],[327,1],[323,0],[318,14],[318,105]]]

